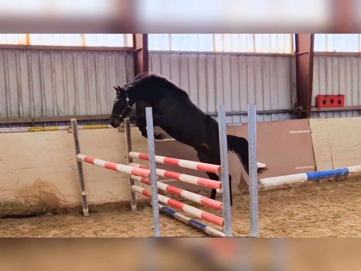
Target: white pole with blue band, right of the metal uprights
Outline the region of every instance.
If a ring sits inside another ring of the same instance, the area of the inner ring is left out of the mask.
[[[309,181],[317,181],[328,178],[339,178],[343,176],[352,177],[354,175],[361,174],[361,165],[355,165],[353,167],[336,168],[323,171],[314,171],[308,173],[299,173],[279,177],[270,177],[260,179],[260,188],[265,187],[277,187],[282,185],[299,184]]]

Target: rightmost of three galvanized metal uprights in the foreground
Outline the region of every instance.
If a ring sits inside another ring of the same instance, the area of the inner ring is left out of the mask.
[[[249,209],[251,236],[259,237],[258,230],[258,180],[257,180],[257,135],[256,106],[248,104],[248,164],[249,164]]]

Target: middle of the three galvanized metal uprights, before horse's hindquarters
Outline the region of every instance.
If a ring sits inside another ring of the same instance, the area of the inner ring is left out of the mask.
[[[221,154],[221,180],[223,196],[223,216],[225,220],[224,232],[226,237],[233,237],[232,217],[231,217],[231,196],[228,174],[228,147],[227,147],[227,124],[225,106],[218,106],[218,130],[219,130],[219,148]]]

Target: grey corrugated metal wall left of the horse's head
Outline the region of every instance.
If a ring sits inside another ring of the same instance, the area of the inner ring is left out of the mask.
[[[0,117],[110,113],[113,85],[134,78],[131,52],[1,50]]]

